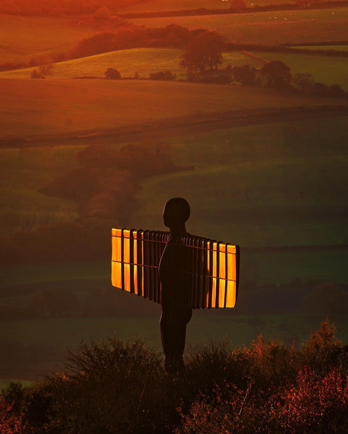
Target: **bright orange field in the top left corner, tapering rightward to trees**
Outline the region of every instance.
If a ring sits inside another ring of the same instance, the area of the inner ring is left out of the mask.
[[[95,30],[71,17],[0,14],[0,63],[27,62],[35,56],[64,53]]]

